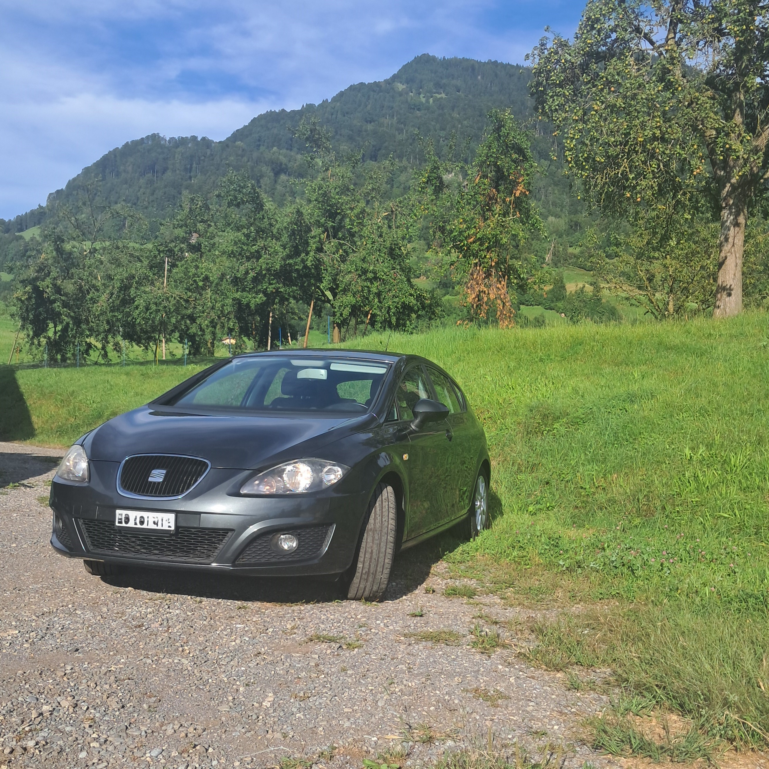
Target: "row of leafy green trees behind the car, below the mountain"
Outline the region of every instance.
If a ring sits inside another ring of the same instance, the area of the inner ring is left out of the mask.
[[[509,112],[489,119],[476,163],[461,166],[472,181],[431,202],[455,271],[471,300],[482,298],[481,317],[496,301],[504,325],[508,279],[520,284],[532,271],[520,249],[541,225],[526,187],[528,138]],[[212,357],[222,338],[234,337],[235,351],[271,345],[276,328],[298,338],[306,308],[322,298],[343,338],[414,331],[442,315],[439,297],[413,279],[418,200],[388,199],[397,165],[339,159],[317,122],[295,134],[309,149],[308,181],[302,199],[282,208],[230,169],[211,198],[185,195],[151,235],[135,211],[99,202],[96,182],[83,185],[15,265],[15,318],[28,344],[62,363],[92,351],[107,362],[125,344],[157,361],[171,339]]]

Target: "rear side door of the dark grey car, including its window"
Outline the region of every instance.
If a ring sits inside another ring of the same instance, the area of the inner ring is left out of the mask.
[[[436,400],[444,404],[449,411],[446,421],[451,430],[451,448],[448,451],[453,494],[451,502],[453,517],[458,518],[470,508],[470,496],[475,485],[478,441],[474,425],[468,418],[468,412],[451,379],[432,366],[428,366],[428,375],[433,384]]]

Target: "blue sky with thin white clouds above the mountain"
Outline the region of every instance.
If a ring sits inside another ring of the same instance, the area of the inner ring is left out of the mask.
[[[573,0],[0,0],[0,217],[157,131],[225,138],[421,53],[522,63]]]

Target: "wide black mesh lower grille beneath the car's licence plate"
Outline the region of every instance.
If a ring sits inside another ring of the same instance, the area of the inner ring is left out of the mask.
[[[232,529],[178,528],[155,534],[118,528],[110,521],[80,519],[88,550],[115,555],[148,555],[167,561],[210,564],[230,538]]]

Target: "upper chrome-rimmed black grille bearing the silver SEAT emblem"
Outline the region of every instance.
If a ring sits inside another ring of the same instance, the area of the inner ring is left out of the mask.
[[[181,497],[203,478],[210,467],[205,459],[195,457],[138,454],[123,462],[118,474],[118,491],[153,499]]]

